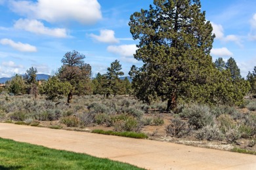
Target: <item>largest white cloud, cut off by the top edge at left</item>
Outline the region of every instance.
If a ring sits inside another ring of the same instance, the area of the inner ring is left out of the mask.
[[[102,18],[97,0],[12,0],[11,9],[29,18],[47,22],[77,21],[81,24],[93,24]]]

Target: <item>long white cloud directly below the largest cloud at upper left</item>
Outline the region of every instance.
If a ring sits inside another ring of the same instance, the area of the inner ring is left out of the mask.
[[[52,37],[65,38],[68,37],[66,33],[66,29],[62,28],[48,28],[43,25],[42,22],[37,20],[28,20],[28,19],[20,19],[15,22],[14,27],[16,29],[24,29],[26,31],[30,31],[32,33],[49,35]]]

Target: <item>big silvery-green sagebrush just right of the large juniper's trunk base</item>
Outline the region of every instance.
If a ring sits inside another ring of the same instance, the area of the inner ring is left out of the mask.
[[[190,126],[201,129],[207,124],[213,124],[213,115],[206,105],[192,105],[182,110],[182,114],[188,118]]]

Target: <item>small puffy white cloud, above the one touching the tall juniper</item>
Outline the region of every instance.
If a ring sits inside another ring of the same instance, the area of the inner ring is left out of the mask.
[[[115,37],[115,32],[110,29],[102,29],[100,30],[100,35],[91,34],[90,37],[95,39],[99,42],[106,42],[106,43],[118,43],[119,40]]]

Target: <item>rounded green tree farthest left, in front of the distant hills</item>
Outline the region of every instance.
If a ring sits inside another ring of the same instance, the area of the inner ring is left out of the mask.
[[[26,92],[26,84],[22,76],[15,75],[11,80],[6,82],[6,88],[9,93],[24,94]]]

